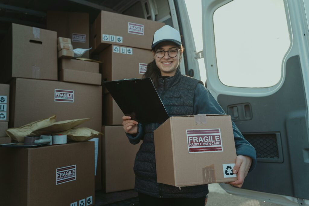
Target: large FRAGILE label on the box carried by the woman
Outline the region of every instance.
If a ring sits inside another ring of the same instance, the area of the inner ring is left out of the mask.
[[[222,152],[220,129],[187,129],[189,153]]]

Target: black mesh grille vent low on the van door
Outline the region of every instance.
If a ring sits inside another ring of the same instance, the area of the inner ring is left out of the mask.
[[[256,158],[279,158],[276,134],[244,134],[243,137],[255,148]]]

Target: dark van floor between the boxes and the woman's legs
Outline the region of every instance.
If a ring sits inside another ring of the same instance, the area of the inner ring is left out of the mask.
[[[95,206],[138,206],[138,193],[134,190],[104,193],[95,191]]]

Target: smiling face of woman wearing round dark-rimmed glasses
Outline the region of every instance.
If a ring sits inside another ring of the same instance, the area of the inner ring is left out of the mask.
[[[174,76],[176,74],[177,67],[179,66],[182,51],[179,50],[176,57],[170,57],[167,53],[168,50],[179,49],[176,44],[173,44],[171,42],[162,42],[161,44],[158,44],[158,46],[155,48],[155,51],[157,51],[158,49],[166,51],[162,58],[157,57],[154,52],[155,63],[160,69],[161,75],[170,77]]]

